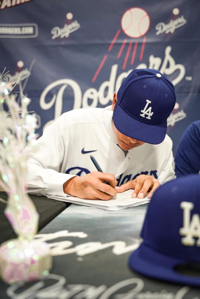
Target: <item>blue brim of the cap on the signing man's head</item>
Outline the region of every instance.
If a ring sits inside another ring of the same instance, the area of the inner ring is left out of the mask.
[[[122,134],[150,144],[161,143],[167,132],[167,121],[161,125],[140,122],[124,112],[118,103],[114,106],[113,122]]]

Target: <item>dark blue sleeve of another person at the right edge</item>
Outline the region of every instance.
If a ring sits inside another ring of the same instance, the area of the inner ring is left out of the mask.
[[[191,123],[183,133],[175,153],[177,178],[200,171],[200,120]]]

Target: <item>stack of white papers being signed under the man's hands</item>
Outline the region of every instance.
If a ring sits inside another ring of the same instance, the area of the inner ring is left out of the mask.
[[[100,200],[100,199],[81,199],[79,197],[73,197],[73,196],[66,196],[66,197],[60,197],[60,196],[48,196],[48,198],[61,200],[63,202],[71,202],[78,205],[86,205],[89,207],[95,207],[100,208],[103,210],[108,211],[114,211],[114,210],[120,210],[124,208],[134,207],[137,205],[143,205],[149,202],[149,199],[147,196],[145,196],[143,199],[139,198],[132,198],[131,194],[133,193],[133,190],[126,190],[122,193],[117,193],[116,198],[112,198],[110,200]]]

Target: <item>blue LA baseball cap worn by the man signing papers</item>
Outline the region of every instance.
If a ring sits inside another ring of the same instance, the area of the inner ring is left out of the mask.
[[[176,101],[172,82],[155,69],[136,69],[117,92],[113,122],[118,131],[151,144],[161,143]]]

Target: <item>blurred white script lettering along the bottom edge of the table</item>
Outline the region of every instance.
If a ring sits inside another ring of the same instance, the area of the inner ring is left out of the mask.
[[[22,287],[26,287],[26,289],[22,289]],[[106,285],[66,285],[65,277],[50,274],[31,286],[26,286],[23,282],[9,286],[7,296],[12,299],[183,299],[184,295],[190,291],[189,287],[184,286],[176,293],[167,292],[166,290],[141,292],[144,287],[144,281],[140,278],[126,279],[109,288]],[[124,288],[126,288],[126,293],[124,293]],[[120,289],[121,292],[123,290],[123,294],[120,294]]]

